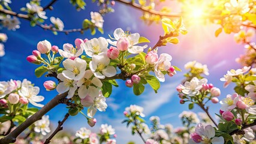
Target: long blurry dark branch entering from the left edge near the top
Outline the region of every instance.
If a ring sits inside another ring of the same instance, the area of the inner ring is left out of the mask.
[[[9,14],[11,16],[16,16],[16,17],[19,17],[21,19],[28,20],[29,22],[31,21],[31,18],[28,15],[19,14],[19,13],[16,13],[14,11],[10,11],[10,10],[0,9],[0,14]],[[44,30],[53,31],[53,32],[63,32],[65,34],[69,34],[71,32],[83,32],[83,31],[89,29],[89,28],[63,29],[62,31],[60,31],[59,29],[53,28],[52,26],[43,25],[41,23],[36,23],[36,25],[39,26],[40,28],[44,29]]]

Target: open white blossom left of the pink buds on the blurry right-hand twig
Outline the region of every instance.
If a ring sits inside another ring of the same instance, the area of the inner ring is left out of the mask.
[[[190,97],[200,94],[200,89],[203,88],[203,84],[207,83],[207,79],[199,80],[197,77],[193,77],[190,82],[184,83],[184,89],[182,92]]]

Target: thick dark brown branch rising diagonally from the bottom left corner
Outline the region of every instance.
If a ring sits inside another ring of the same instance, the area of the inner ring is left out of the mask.
[[[14,143],[16,141],[16,137],[19,136],[20,133],[22,133],[26,128],[28,128],[30,125],[32,125],[35,121],[38,121],[43,115],[45,115],[47,112],[49,112],[53,107],[57,106],[59,104],[59,100],[61,98],[67,97],[68,92],[65,92],[63,94],[58,94],[56,97],[54,97],[52,100],[49,101],[44,107],[42,107],[38,112],[36,112],[34,115],[26,119],[25,122],[20,124],[17,128],[15,128],[13,131],[11,131],[10,134],[0,139],[0,144],[5,143]]]

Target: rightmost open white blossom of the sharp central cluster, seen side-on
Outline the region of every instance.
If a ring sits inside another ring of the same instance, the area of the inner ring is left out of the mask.
[[[162,53],[154,66],[154,74],[160,82],[165,82],[165,75],[162,71],[167,71],[171,67],[172,56],[167,53]]]

